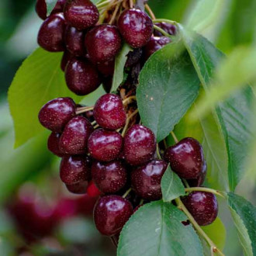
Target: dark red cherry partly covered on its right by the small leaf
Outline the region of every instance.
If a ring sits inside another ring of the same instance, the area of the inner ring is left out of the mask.
[[[161,199],[161,178],[168,164],[162,160],[153,160],[132,171],[132,186],[143,199]]]

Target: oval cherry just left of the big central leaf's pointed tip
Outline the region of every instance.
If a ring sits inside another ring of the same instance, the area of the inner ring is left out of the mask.
[[[147,163],[156,150],[154,133],[146,126],[139,124],[131,126],[124,137],[123,150],[128,164]]]

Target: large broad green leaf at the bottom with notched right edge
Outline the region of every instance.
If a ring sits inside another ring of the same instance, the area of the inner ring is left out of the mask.
[[[119,237],[118,256],[202,255],[202,245],[182,211],[171,202],[150,202],[134,213]]]

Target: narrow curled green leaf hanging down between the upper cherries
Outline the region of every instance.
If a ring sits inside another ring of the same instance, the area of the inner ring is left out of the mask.
[[[116,56],[115,60],[115,71],[112,78],[112,88],[110,92],[116,92],[116,89],[123,82],[123,70],[127,60],[127,54],[132,50],[132,48],[124,43],[119,54]]]

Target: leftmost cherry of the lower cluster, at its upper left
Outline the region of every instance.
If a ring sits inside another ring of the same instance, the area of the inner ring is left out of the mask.
[[[57,98],[47,102],[38,114],[42,126],[60,133],[64,125],[75,115],[75,104],[71,98]]]

